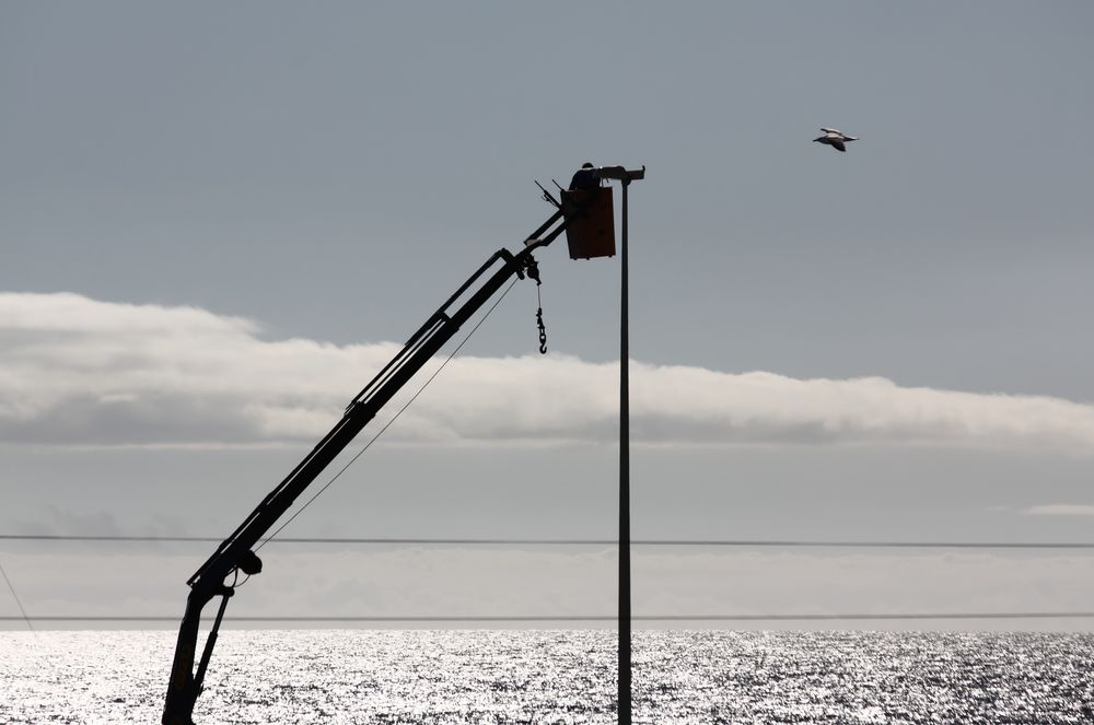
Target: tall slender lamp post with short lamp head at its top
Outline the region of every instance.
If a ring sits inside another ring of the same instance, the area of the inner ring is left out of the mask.
[[[645,166],[601,166],[593,174],[622,185],[619,301],[619,725],[631,725],[630,701],[630,335],[627,279],[627,190],[645,178]]]

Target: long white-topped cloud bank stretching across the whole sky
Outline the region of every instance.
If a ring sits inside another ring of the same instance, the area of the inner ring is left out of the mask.
[[[0,293],[0,442],[314,441],[399,349],[267,340],[254,321],[77,294]],[[440,365],[435,361],[432,369]],[[428,372],[427,371],[427,372]],[[609,444],[616,363],[457,358],[385,435],[420,445]],[[407,396],[420,383],[411,383]],[[404,397],[404,400],[406,397]],[[399,399],[388,407],[394,413]],[[1094,452],[1094,407],[1059,398],[631,364],[649,445],[939,445]]]

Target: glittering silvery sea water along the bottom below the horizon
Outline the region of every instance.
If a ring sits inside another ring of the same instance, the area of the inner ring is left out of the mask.
[[[1094,635],[635,633],[635,722],[1094,723]],[[158,723],[172,632],[0,632],[0,723]],[[198,723],[614,723],[604,630],[222,632]]]

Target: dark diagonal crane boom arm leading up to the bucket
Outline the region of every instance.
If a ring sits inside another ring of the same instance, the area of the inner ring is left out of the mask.
[[[555,229],[550,229],[560,222]],[[238,528],[228,537],[211,557],[187,581],[190,593],[178,628],[171,681],[163,708],[163,725],[193,725],[194,703],[201,693],[206,668],[217,643],[228,598],[234,594],[234,577],[240,572],[257,574],[263,564],[254,547],[284,515],[303,491],[315,481],[376,413],[421,370],[447,342],[459,327],[488,302],[513,276],[538,278],[532,253],[547,246],[566,229],[561,211],[552,214],[533,232],[523,249],[513,254],[500,249],[449,297],[415,332],[403,349],[346,407],[341,419],[300,464],[251,512]],[[548,232],[548,230],[550,230]],[[473,291],[474,290],[474,291]],[[463,302],[459,302],[463,300]],[[233,583],[226,583],[233,577]],[[206,640],[197,670],[197,652],[201,610],[214,597],[223,597]]]

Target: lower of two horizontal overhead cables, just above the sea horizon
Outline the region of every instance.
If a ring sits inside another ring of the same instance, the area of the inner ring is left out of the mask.
[[[1091,619],[1094,611],[1017,611],[1017,612],[846,612],[846,613],[767,613],[767,615],[635,615],[645,622],[765,622],[765,621],[863,621],[863,620],[998,620],[998,619]],[[177,622],[177,616],[141,615],[49,615],[30,616],[36,622]],[[203,617],[202,621],[212,621]],[[318,616],[318,617],[225,617],[233,622],[614,622],[614,615],[407,615],[407,616]],[[0,617],[0,621],[23,621],[23,617]]]

